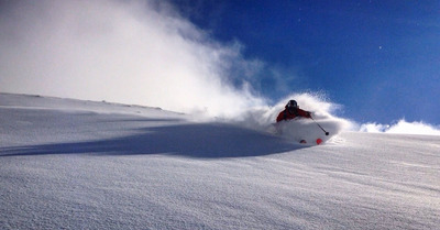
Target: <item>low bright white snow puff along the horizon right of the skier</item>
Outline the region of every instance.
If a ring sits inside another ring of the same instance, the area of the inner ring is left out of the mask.
[[[365,123],[360,128],[361,132],[383,132],[399,134],[422,134],[422,135],[440,135],[440,127],[424,122],[407,122],[405,119],[399,120],[395,124]]]

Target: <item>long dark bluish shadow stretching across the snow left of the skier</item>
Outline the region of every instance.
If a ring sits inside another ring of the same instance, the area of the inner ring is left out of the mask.
[[[139,134],[73,143],[0,149],[0,156],[47,154],[172,154],[187,157],[243,157],[304,146],[280,138],[229,124],[197,123],[143,128]]]

